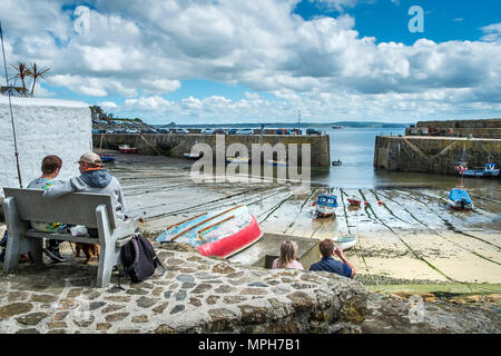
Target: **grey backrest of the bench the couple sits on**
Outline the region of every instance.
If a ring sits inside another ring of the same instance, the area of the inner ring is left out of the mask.
[[[60,197],[43,197],[42,190],[3,188],[6,198],[13,197],[21,220],[65,222],[97,228],[96,208],[105,205],[110,227],[116,228],[111,197],[91,192],[71,192]]]

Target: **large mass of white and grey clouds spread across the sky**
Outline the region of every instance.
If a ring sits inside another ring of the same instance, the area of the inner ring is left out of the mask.
[[[312,1],[337,10],[370,2]],[[304,20],[293,14],[297,2],[95,0],[85,33],[75,31],[72,12],[62,10],[68,1],[3,0],[0,12],[16,14],[2,22],[10,62],[50,66],[45,82],[104,102],[119,95],[126,100],[117,110],[151,117],[215,117],[218,110],[227,118],[296,117],[297,108],[289,109],[296,106],[312,118],[394,116],[404,109],[454,111],[454,100],[462,108],[499,108],[501,23],[481,28],[479,41],[376,43],[360,36],[351,16]],[[248,91],[236,101],[163,97],[187,79]],[[277,100],[259,99],[258,92]]]

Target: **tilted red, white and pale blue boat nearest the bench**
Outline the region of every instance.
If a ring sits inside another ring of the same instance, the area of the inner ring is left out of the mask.
[[[263,231],[247,206],[224,211],[203,212],[170,225],[157,241],[186,243],[198,248],[203,256],[229,257],[256,243]]]

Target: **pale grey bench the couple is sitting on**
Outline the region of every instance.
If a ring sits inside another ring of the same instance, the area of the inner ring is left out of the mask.
[[[36,264],[42,264],[42,238],[72,243],[99,244],[98,288],[111,279],[114,266],[120,264],[121,246],[127,244],[138,229],[136,219],[117,219],[111,197],[108,195],[72,192],[57,198],[43,197],[43,191],[33,189],[3,188],[2,204],[6,215],[7,241],[3,271],[18,267],[19,256],[29,253]],[[97,228],[99,237],[71,234],[38,233],[30,221],[65,222]]]

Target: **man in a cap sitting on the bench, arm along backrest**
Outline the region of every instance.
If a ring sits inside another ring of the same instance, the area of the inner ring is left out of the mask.
[[[115,200],[115,215],[118,219],[125,220],[124,192],[120,182],[102,167],[101,159],[95,152],[88,152],[80,157],[80,176],[72,177],[61,185],[49,187],[43,194],[45,197],[59,197],[69,192],[95,192],[106,194]],[[89,236],[98,236],[97,229],[88,229]]]

